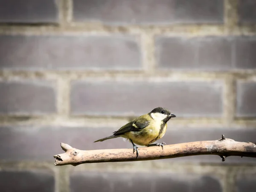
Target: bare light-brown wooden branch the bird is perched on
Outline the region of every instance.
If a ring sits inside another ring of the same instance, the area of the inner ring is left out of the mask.
[[[156,160],[209,154],[219,155],[222,161],[228,156],[256,157],[255,143],[237,142],[225,138],[224,135],[222,135],[220,140],[165,145],[163,150],[158,146],[140,148],[138,158],[136,158],[136,153],[133,153],[132,148],[82,151],[65,143],[61,143],[61,148],[65,153],[53,156],[55,158],[54,165],[56,166],[77,166],[82,163]]]

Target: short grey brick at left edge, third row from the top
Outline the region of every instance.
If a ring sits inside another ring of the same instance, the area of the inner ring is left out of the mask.
[[[0,82],[0,113],[38,115],[56,112],[54,82],[27,80]]]

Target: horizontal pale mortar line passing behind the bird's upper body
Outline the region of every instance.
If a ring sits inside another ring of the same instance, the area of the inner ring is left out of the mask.
[[[129,117],[104,117],[101,116],[100,118],[97,116],[80,116],[80,117],[68,117],[66,119],[61,119],[61,117],[56,118],[33,118],[29,117],[27,120],[20,121],[20,118],[8,118],[6,119],[0,118],[0,126],[36,126],[36,127],[44,127],[44,126],[52,126],[52,127],[69,127],[69,128],[83,128],[83,127],[91,127],[91,128],[116,128],[121,127],[125,123],[129,121]],[[134,118],[133,118],[134,119]],[[247,122],[244,120],[244,123]],[[172,127],[175,128],[227,128],[230,129],[230,126],[227,126],[226,123],[222,121],[221,118],[206,118],[206,117],[197,117],[197,118],[183,118],[177,121],[173,121]],[[255,128],[256,119],[251,122],[251,126],[247,126],[248,128]],[[243,125],[236,125],[232,128],[240,129],[244,128]]]

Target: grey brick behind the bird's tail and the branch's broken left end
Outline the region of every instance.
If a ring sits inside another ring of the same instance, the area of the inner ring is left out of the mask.
[[[111,135],[116,128],[67,128],[52,126],[14,126],[0,128],[0,160],[54,160],[52,155],[63,153],[60,143],[84,150],[131,148],[131,143],[117,138],[108,143],[93,143]],[[40,153],[38,153],[40,151]]]

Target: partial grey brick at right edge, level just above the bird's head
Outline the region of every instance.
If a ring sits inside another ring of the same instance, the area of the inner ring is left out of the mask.
[[[236,116],[256,117],[256,82],[237,82]]]

